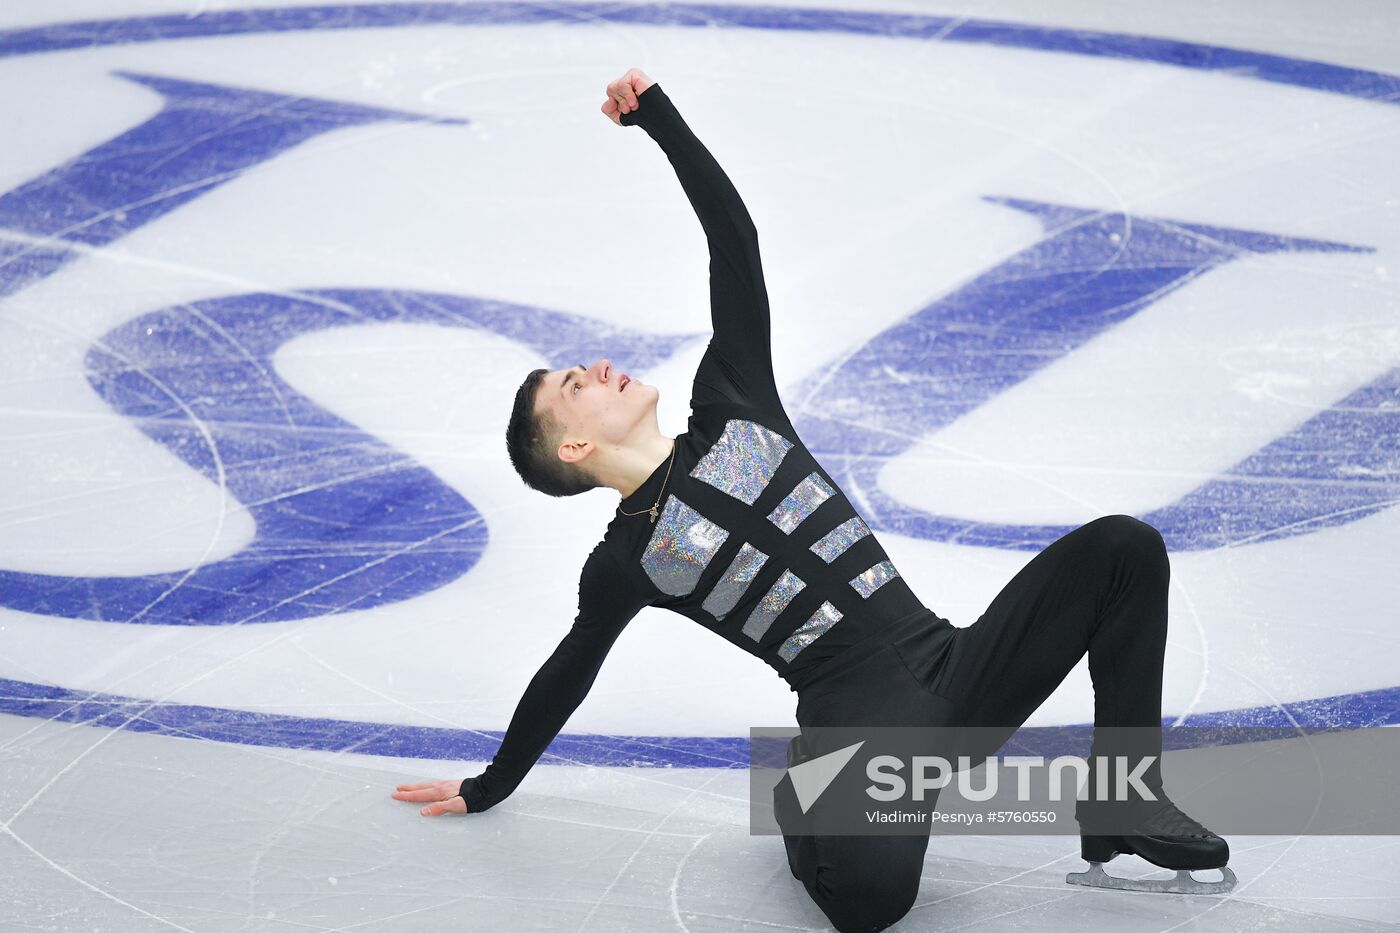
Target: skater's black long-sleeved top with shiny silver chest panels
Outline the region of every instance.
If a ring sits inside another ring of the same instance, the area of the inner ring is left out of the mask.
[[[662,462],[622,500],[619,513],[643,514],[615,516],[584,563],[574,626],[526,688],[490,768],[462,783],[472,811],[515,789],[643,607],[700,622],[799,692],[850,646],[911,618],[937,622],[783,410],[759,238],[739,193],[659,84],[638,104],[622,122],[661,144],[710,242],[714,339],[675,464]],[[664,481],[651,524],[645,509]]]

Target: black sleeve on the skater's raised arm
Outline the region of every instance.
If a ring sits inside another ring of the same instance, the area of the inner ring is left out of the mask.
[[[739,192],[659,84],[638,94],[637,109],[619,119],[641,126],[665,151],[710,242],[714,338],[696,370],[692,405],[739,402],[781,412],[759,233]]]

